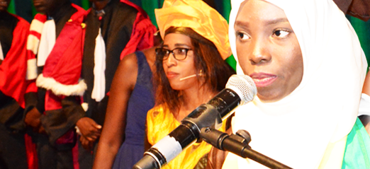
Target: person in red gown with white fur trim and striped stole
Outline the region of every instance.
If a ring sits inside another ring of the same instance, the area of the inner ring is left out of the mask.
[[[84,116],[86,90],[80,79],[86,11],[69,0],[40,4],[45,14],[35,16],[27,44],[26,124],[35,131],[39,168],[74,168],[74,127]]]

